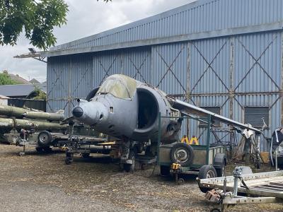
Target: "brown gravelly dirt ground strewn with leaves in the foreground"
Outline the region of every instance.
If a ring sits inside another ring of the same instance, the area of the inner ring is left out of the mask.
[[[64,153],[36,153],[0,145],[0,211],[210,211],[196,176],[175,185],[158,167],[126,173],[110,158],[79,158],[65,165]],[[230,166],[231,170],[233,165]],[[229,211],[283,211],[283,204],[235,206]]]

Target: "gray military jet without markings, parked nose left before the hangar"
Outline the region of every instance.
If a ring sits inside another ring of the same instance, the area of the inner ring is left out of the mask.
[[[120,158],[125,170],[133,168],[132,161],[137,153],[145,150],[147,155],[156,155],[159,113],[162,117],[171,117],[161,119],[162,143],[174,143],[179,139],[183,119],[174,117],[191,113],[209,114],[213,120],[260,133],[247,124],[176,100],[158,88],[122,74],[109,76],[99,88],[91,90],[86,100],[78,102],[79,106],[72,111],[74,119],[120,139]]]

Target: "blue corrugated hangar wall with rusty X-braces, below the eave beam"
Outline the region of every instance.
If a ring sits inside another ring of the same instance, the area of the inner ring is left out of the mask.
[[[231,89],[233,119],[239,122],[244,122],[246,106],[270,107],[270,129],[265,134],[271,136],[281,124],[282,38],[282,32],[272,31],[50,57],[47,110],[65,108],[69,114],[76,103],[74,98],[86,98],[88,90],[99,86],[108,75],[124,73],[158,86],[168,94],[185,95],[188,86],[188,92],[193,95],[190,103],[219,106],[225,117],[230,116]],[[72,102],[69,105],[68,98]],[[189,136],[201,134],[198,125],[190,123]],[[185,124],[181,134],[186,134]],[[202,139],[205,141],[205,137]],[[263,139],[261,148],[268,150]]]

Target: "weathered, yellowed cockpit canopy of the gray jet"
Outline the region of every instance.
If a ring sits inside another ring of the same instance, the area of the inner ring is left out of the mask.
[[[116,98],[132,100],[137,90],[137,81],[122,74],[106,78],[98,90],[98,94],[110,93]]]

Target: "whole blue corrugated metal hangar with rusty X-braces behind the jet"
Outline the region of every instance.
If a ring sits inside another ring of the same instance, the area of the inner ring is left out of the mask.
[[[53,47],[43,55],[47,110],[69,115],[76,98],[124,73],[239,122],[264,117],[270,136],[283,125],[282,9],[282,0],[199,0]]]

